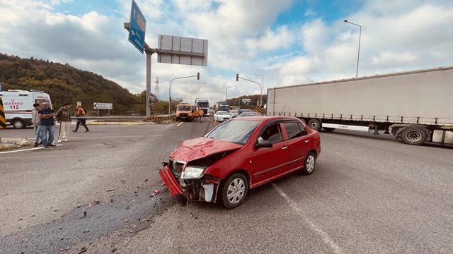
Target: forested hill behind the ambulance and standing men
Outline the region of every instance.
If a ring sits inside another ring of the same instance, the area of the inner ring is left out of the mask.
[[[145,114],[145,92],[133,95],[126,88],[68,63],[22,59],[0,53],[1,90],[42,90],[50,95],[55,109],[66,102],[81,102],[92,111],[93,102],[113,103],[114,115]],[[167,104],[168,105],[168,104]],[[105,112],[102,112],[105,114]]]

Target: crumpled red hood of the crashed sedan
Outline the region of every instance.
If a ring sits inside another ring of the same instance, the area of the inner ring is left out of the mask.
[[[194,138],[185,140],[178,149],[174,150],[171,157],[183,162],[190,162],[219,152],[239,150],[242,145],[212,138]]]

